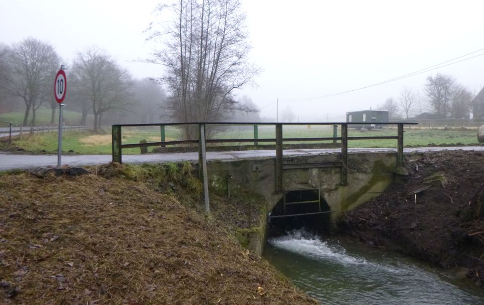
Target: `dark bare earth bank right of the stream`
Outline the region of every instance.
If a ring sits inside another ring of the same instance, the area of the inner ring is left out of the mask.
[[[462,267],[484,285],[484,152],[429,152],[406,168],[409,176],[347,213],[343,230],[445,268]]]

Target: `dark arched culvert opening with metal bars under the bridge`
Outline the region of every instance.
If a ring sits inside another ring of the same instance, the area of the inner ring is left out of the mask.
[[[291,190],[284,194],[285,199],[283,195],[269,215],[268,237],[302,228],[316,234],[330,231],[331,213],[320,212],[330,212],[331,209],[318,189]]]

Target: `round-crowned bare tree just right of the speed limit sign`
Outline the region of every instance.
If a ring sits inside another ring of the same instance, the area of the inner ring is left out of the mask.
[[[89,103],[94,114],[94,131],[101,129],[102,116],[126,110],[132,102],[131,75],[104,52],[90,48],[78,53],[72,65],[77,99]]]

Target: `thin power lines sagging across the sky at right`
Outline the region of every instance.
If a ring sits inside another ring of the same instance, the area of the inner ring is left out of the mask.
[[[411,76],[415,76],[415,75],[418,75],[418,74],[422,74],[422,73],[426,73],[426,72],[429,72],[433,69],[438,69],[438,68],[443,68],[443,67],[446,67],[446,66],[449,66],[449,65],[452,65],[452,64],[455,64],[455,63],[459,63],[459,62],[462,62],[462,61],[467,61],[467,60],[470,60],[470,59],[473,59],[473,58],[476,58],[476,57],[479,57],[479,56],[483,56],[484,53],[482,54],[478,54],[478,55],[475,55],[475,56],[472,56],[472,57],[469,57],[469,58],[465,58],[463,60],[460,60],[460,61],[455,61],[455,60],[458,60],[458,59],[461,59],[461,58],[464,58],[466,56],[469,56],[469,55],[472,55],[472,54],[475,54],[475,53],[478,53],[480,51],[483,51],[483,49],[480,49],[480,50],[477,50],[477,51],[474,51],[474,52],[471,52],[471,53],[468,53],[466,55],[462,55],[462,56],[459,56],[459,57],[456,57],[454,59],[451,59],[451,60],[448,60],[448,61],[443,61],[443,62],[440,62],[440,63],[437,63],[437,64],[434,64],[434,65],[431,65],[429,67],[426,67],[426,68],[423,68],[423,69],[420,69],[420,70],[417,70],[415,72],[412,72],[412,73],[408,73],[408,74],[405,74],[405,75],[401,75],[401,76],[398,76],[398,77],[395,77],[395,78],[391,78],[391,79],[388,79],[388,80],[385,80],[385,81],[381,81],[381,82],[378,82],[378,83],[375,83],[375,84],[372,84],[372,85],[368,85],[368,86],[364,86],[364,87],[360,87],[360,88],[356,88],[356,89],[351,89],[351,90],[346,90],[346,91],[341,91],[341,92],[337,92],[337,93],[332,93],[332,94],[326,94],[326,95],[320,95],[320,96],[314,96],[314,97],[308,97],[308,98],[296,98],[296,99],[280,99],[281,101],[284,101],[284,102],[301,102],[301,101],[310,101],[310,100],[316,100],[316,99],[322,99],[322,98],[327,98],[327,97],[332,97],[332,96],[336,96],[336,95],[341,95],[341,94],[346,94],[346,93],[350,93],[350,92],[354,92],[354,91],[358,91],[358,90],[363,90],[363,89],[366,89],[366,88],[370,88],[370,87],[374,87],[374,86],[378,86],[378,85],[382,85],[382,84],[385,84],[385,83],[389,83],[389,82],[393,82],[393,81],[397,81],[397,80],[400,80],[400,79],[404,79],[404,78],[408,78],[408,77],[411,77]],[[454,62],[451,62],[451,61],[454,61]],[[450,63],[449,63],[450,62]],[[444,64],[444,63],[447,63],[447,64]],[[270,106],[274,104],[271,103],[271,104],[268,104],[264,107],[267,107],[267,106]]]

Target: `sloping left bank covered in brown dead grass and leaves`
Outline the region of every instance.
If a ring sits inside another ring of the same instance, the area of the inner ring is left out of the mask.
[[[124,178],[112,167],[97,169],[103,176],[0,176],[3,304],[316,303],[174,198],[198,190],[183,169],[165,168],[158,174],[170,180],[149,185],[133,181],[133,169]]]

